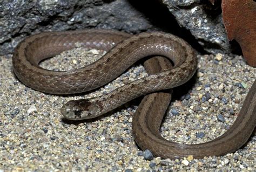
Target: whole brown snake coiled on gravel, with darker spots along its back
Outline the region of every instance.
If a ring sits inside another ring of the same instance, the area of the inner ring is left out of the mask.
[[[62,51],[82,46],[109,51],[95,63],[72,71],[49,71],[39,67],[43,59]],[[13,56],[14,72],[26,86],[51,94],[72,94],[90,91],[110,82],[139,59],[146,61],[148,77],[133,81],[103,97],[72,100],[61,112],[70,120],[95,118],[126,102],[146,95],[132,122],[138,145],[150,149],[155,156],[179,158],[193,155],[201,158],[234,152],[248,140],[256,123],[256,84],[254,82],[242,106],[240,115],[227,132],[216,139],[198,145],[184,145],[161,137],[159,128],[171,100],[170,91],[189,80],[197,69],[193,49],[183,39],[163,33],[140,33],[131,36],[111,30],[45,32],[19,43]]]

